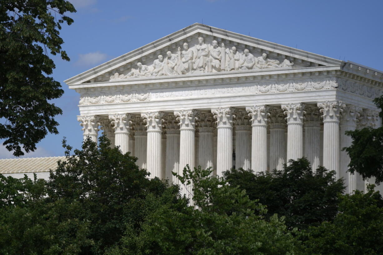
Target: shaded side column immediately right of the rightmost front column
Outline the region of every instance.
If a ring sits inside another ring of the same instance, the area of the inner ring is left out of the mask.
[[[354,131],[357,127],[357,121],[360,116],[361,108],[354,105],[347,105],[340,118],[340,148],[349,147],[352,143],[352,138],[346,136],[346,131]],[[344,178],[346,185],[345,193],[352,193],[357,189],[357,182],[363,182],[363,178],[358,173],[350,173],[349,170],[350,157],[347,152],[340,151],[339,177]]]

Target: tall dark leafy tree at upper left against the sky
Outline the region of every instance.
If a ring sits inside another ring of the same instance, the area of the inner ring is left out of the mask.
[[[0,139],[13,155],[58,133],[54,116],[62,111],[49,100],[64,91],[48,76],[55,68],[48,54],[69,61],[59,36],[62,23],[73,22],[66,12],[75,9],[65,0],[0,0]]]

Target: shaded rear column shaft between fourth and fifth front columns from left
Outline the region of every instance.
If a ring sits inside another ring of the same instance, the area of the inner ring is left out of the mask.
[[[202,169],[213,168],[213,128],[200,127],[198,165]]]

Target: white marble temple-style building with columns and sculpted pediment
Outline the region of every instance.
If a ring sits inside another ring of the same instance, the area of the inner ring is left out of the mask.
[[[335,170],[347,192],[363,190],[347,172],[344,131],[381,125],[372,100],[382,72],[201,24],[65,82],[80,93],[84,137],[102,129],[151,177],[176,183],[171,172],[186,164],[222,175],[305,156],[313,170]]]

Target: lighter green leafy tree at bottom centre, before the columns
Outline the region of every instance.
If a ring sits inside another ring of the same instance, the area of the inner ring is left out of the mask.
[[[178,178],[194,183],[196,208],[156,203],[141,229],[127,226],[120,244],[106,254],[293,254],[297,242],[283,219],[266,221],[265,206],[211,172],[185,168]]]

